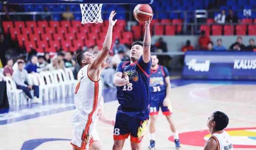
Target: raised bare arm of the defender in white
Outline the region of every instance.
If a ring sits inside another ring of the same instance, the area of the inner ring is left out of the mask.
[[[113,21],[113,17],[115,16],[116,12],[112,11],[109,16],[109,29],[107,30],[107,35],[103,43],[102,50],[98,54],[98,56],[92,61],[92,64],[89,66],[89,74],[92,74],[90,76],[93,76],[93,72],[97,72],[100,68],[100,65],[105,61],[107,54],[109,53],[111,43],[112,43],[112,32],[113,32],[113,26],[115,25],[115,22],[117,22],[117,19]]]

